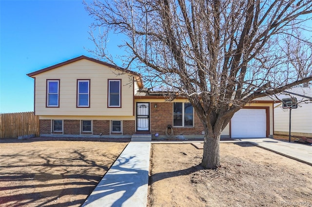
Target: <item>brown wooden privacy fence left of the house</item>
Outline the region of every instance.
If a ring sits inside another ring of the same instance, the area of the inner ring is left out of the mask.
[[[39,136],[39,116],[34,112],[0,114],[0,138]]]

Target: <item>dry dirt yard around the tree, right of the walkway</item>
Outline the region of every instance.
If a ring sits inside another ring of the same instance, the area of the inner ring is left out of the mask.
[[[153,144],[149,207],[312,206],[312,166],[251,144],[220,144],[221,167],[203,170],[191,144]]]

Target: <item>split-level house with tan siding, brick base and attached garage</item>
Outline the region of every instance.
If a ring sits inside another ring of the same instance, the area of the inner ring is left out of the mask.
[[[188,100],[168,102],[159,92],[140,92],[143,84],[137,72],[79,56],[27,75],[35,80],[40,136],[168,138],[173,132],[172,138],[203,138],[202,123]],[[273,136],[273,103],[262,98],[246,105],[221,137]]]

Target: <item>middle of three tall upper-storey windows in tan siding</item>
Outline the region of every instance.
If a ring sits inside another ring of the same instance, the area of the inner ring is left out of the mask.
[[[77,107],[90,107],[90,79],[77,80]]]

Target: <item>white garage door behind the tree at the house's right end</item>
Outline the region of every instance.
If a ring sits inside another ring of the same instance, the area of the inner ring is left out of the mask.
[[[231,121],[232,138],[265,138],[266,110],[240,109]]]

